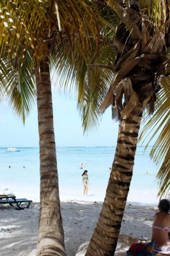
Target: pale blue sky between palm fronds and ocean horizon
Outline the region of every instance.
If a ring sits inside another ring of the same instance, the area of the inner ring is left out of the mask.
[[[118,122],[111,118],[111,108],[102,115],[97,130],[83,134],[77,102],[67,95],[52,93],[54,131],[57,147],[115,146],[118,137]],[[26,118],[25,125],[13,113],[7,102],[0,102],[0,147],[38,147],[38,117],[36,102]]]

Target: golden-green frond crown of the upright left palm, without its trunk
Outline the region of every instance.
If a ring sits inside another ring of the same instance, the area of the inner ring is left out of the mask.
[[[73,86],[77,77],[73,68],[77,56],[80,61],[85,58],[88,60],[88,52],[93,51],[94,42],[98,48],[100,19],[97,18],[96,5],[89,3],[86,0],[58,1],[59,31],[54,1],[1,1],[0,56],[2,65],[6,66],[5,70],[1,65],[1,83],[4,84],[6,96],[23,120],[35,93],[32,61],[40,61],[49,52],[51,56],[55,55],[58,72],[61,74],[62,71],[63,74],[60,83],[67,88],[68,84]],[[82,52],[82,48],[87,49],[86,53]],[[2,98],[4,92],[0,92]]]

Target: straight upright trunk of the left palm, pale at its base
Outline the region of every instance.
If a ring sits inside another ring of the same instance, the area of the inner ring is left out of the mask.
[[[40,217],[36,256],[66,255],[59,201],[49,59],[36,65],[40,138]]]

